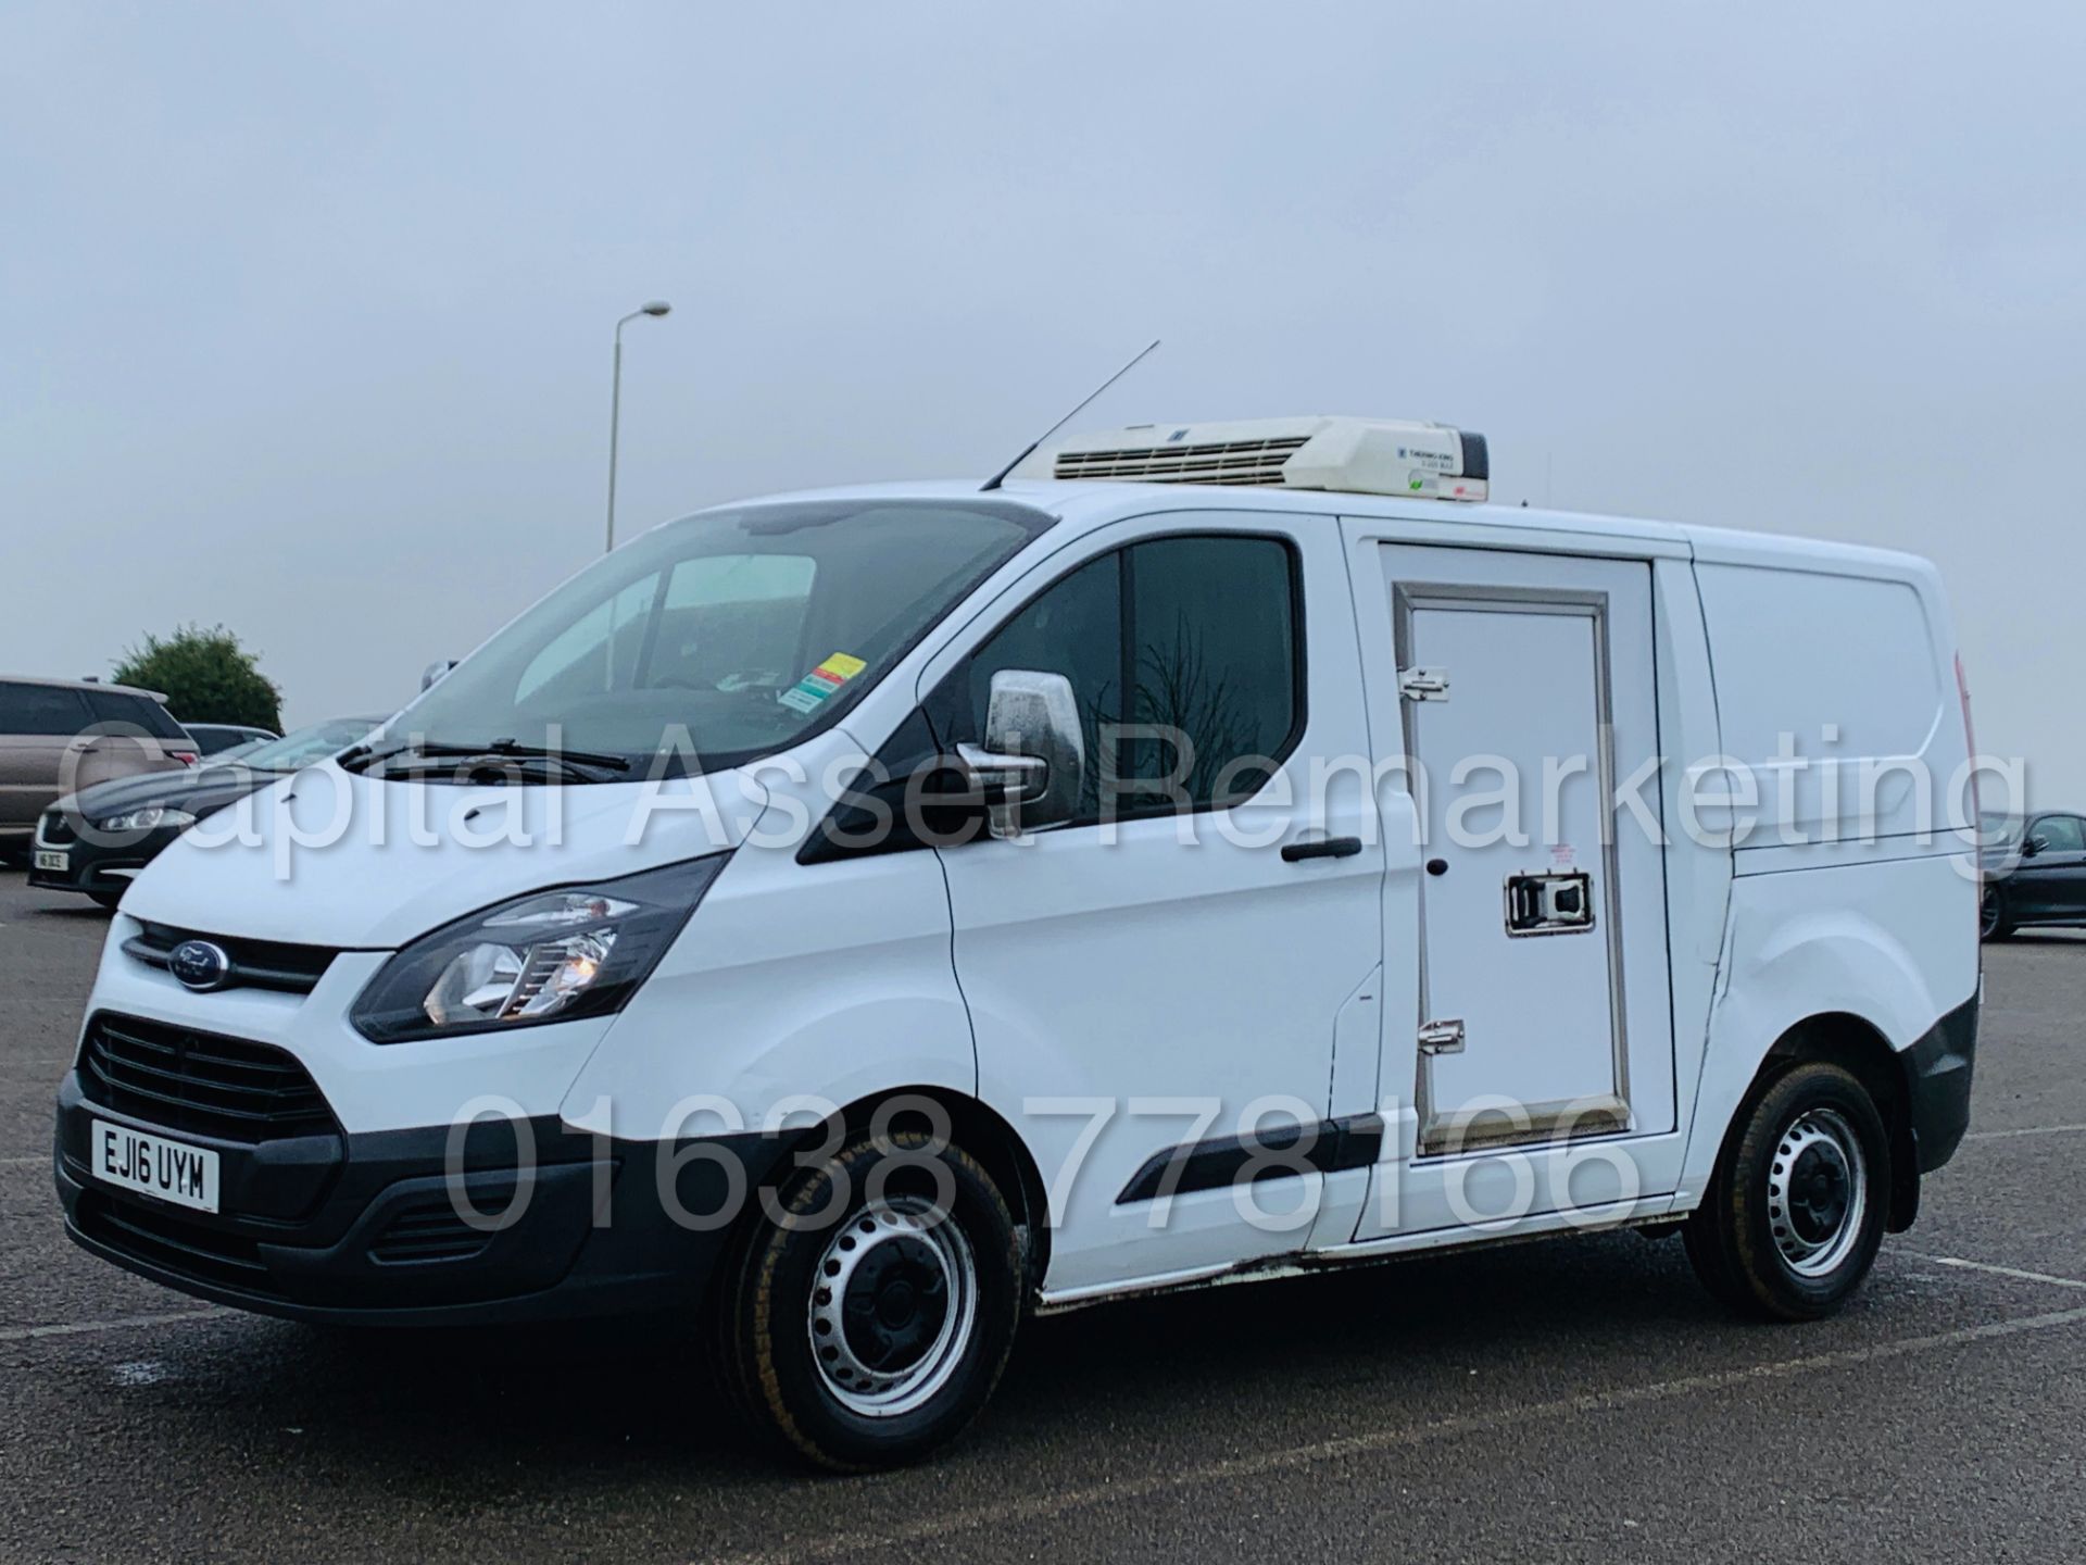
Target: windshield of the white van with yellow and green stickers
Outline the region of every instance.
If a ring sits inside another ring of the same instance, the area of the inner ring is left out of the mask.
[[[807,501],[670,522],[574,576],[388,739],[743,766],[824,728],[1051,517],[1003,501]]]

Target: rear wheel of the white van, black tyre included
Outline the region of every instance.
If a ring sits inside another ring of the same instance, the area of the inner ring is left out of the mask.
[[[1817,1321],[1861,1287],[1888,1214],[1890,1135],[1867,1089],[1836,1064],[1800,1064],[1725,1146],[1688,1219],[1688,1258],[1738,1310]]]

